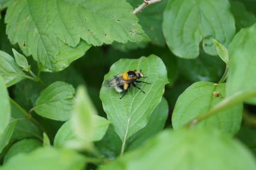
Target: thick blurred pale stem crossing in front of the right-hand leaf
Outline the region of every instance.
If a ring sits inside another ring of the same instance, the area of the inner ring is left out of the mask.
[[[184,127],[191,127],[191,126],[195,125],[196,123],[198,123],[199,121],[201,121],[202,119],[206,119],[207,117],[210,117],[211,115],[218,113],[218,111],[220,111],[222,109],[230,107],[238,102],[242,102],[245,99],[248,99],[255,95],[256,95],[256,84],[253,84],[241,91],[238,91],[238,92],[230,95],[229,97],[226,97],[224,100],[222,100],[220,103],[218,103],[217,105],[212,107],[212,109],[210,109],[206,113],[199,115],[195,119],[192,119],[191,121],[186,123],[184,125]]]

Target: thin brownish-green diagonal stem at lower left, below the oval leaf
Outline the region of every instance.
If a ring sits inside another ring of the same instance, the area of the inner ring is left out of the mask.
[[[42,127],[42,125],[36,119],[34,119],[34,117],[32,117],[32,115],[28,114],[18,103],[16,103],[16,101],[14,101],[10,97],[9,97],[9,100],[10,100],[10,103],[12,103],[12,105],[14,105],[24,116],[26,116],[26,119],[28,119],[32,123],[34,123],[38,128],[40,128],[40,130],[42,130],[42,132],[46,132],[44,127]],[[46,132],[46,134],[53,140],[52,135],[49,135],[47,132]]]

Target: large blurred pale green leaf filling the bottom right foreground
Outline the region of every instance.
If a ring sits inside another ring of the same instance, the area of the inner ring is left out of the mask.
[[[256,159],[237,140],[205,128],[166,130],[99,170],[255,170]]]

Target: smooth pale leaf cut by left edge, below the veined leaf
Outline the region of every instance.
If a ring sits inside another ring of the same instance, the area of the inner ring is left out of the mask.
[[[8,126],[11,118],[11,106],[9,95],[4,83],[4,79],[0,75],[0,138],[4,133],[4,129]]]

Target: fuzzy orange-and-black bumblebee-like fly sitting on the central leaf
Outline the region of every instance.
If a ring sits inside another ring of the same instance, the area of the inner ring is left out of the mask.
[[[148,76],[146,76],[148,77]],[[146,78],[143,76],[143,74],[141,73],[141,70],[134,70],[134,71],[126,71],[124,73],[115,75],[114,77],[111,77],[110,79],[106,80],[104,82],[104,86],[105,87],[115,87],[116,91],[118,93],[121,93],[122,91],[124,91],[124,94],[122,95],[122,97],[120,97],[120,99],[122,99],[124,97],[124,95],[127,93],[128,89],[130,88],[130,84],[132,84],[134,87],[136,87],[137,89],[140,89],[140,87],[137,87],[134,82],[137,83],[146,83],[146,84],[151,84],[151,83],[147,83],[144,81],[137,81],[137,79],[140,78]],[[140,89],[140,91],[142,91],[142,89]],[[143,93],[145,93],[144,91],[142,91]]]

